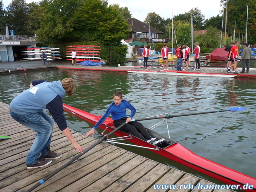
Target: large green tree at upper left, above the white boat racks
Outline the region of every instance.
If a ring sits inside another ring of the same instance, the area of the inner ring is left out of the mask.
[[[74,15],[83,2],[84,0],[52,0],[47,4],[43,2],[41,27],[36,31],[40,42],[68,43],[79,40],[73,31]]]

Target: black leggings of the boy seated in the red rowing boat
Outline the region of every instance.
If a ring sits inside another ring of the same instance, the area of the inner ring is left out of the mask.
[[[119,120],[114,120],[114,126],[115,127],[121,126],[123,123],[126,122],[127,118],[128,117],[124,117]],[[144,141],[150,140],[152,138],[152,136],[149,135],[149,133],[147,132],[145,127],[142,125],[142,123],[139,123],[137,121],[127,123],[125,126],[121,127],[119,130],[122,130],[126,133],[130,132],[135,137],[138,137]]]

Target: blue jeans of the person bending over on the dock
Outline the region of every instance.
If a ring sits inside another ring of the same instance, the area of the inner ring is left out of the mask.
[[[52,141],[54,121],[43,110],[39,113],[26,114],[14,113],[11,109],[9,112],[15,121],[37,133],[26,158],[26,164],[33,165],[38,160],[41,152],[42,158],[48,153],[48,146]]]

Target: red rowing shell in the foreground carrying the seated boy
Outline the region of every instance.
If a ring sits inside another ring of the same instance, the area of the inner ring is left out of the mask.
[[[99,121],[101,116],[96,116],[93,114],[90,114],[88,112],[82,111],[80,109],[76,109],[74,107],[68,106],[63,104],[64,110],[70,112],[71,114],[78,116],[82,119],[85,119],[86,121],[96,124],[97,121]],[[113,130],[113,120],[111,118],[107,118],[104,123],[100,126],[100,128],[105,129],[107,128],[108,132],[111,132]],[[232,170],[230,168],[227,168],[225,166],[222,166],[220,164],[217,164],[213,161],[210,161],[208,159],[205,159],[193,152],[191,152],[189,149],[183,147],[177,142],[174,142],[173,140],[170,140],[169,138],[164,137],[163,135],[160,135],[159,133],[156,133],[153,130],[148,130],[152,136],[158,136],[165,138],[166,140],[172,142],[172,145],[169,145],[164,148],[160,148],[159,150],[151,150],[152,152],[155,152],[156,154],[159,154],[161,156],[164,156],[168,159],[171,159],[173,161],[176,161],[180,164],[183,164],[189,168],[192,168],[196,171],[199,171],[203,174],[209,175],[212,178],[215,178],[225,184],[228,185],[240,185],[241,187],[244,185],[253,185],[254,188],[249,190],[249,189],[244,189],[244,191],[247,192],[256,192],[256,179],[252,178],[248,175],[245,175],[243,173],[239,173],[238,171]],[[116,131],[114,133],[115,135],[119,137],[127,136],[129,135],[128,133],[124,133],[122,131]],[[135,145],[140,145],[144,147],[150,147],[154,148],[155,146],[152,144],[149,144],[148,142],[145,142],[137,137],[133,137],[133,139],[129,140],[130,142],[134,143]],[[243,190],[241,188],[241,190]]]

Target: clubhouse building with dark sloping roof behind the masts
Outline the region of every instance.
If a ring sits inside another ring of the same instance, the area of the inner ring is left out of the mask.
[[[131,43],[133,41],[140,41],[140,42],[167,42],[166,39],[162,38],[162,35],[164,32],[157,30],[156,28],[153,28],[150,26],[150,32],[152,33],[152,38],[149,37],[149,25],[143,23],[142,21],[139,21],[135,18],[129,18],[126,19],[128,22],[128,25],[130,27],[130,34],[127,36],[125,41],[127,43]]]

